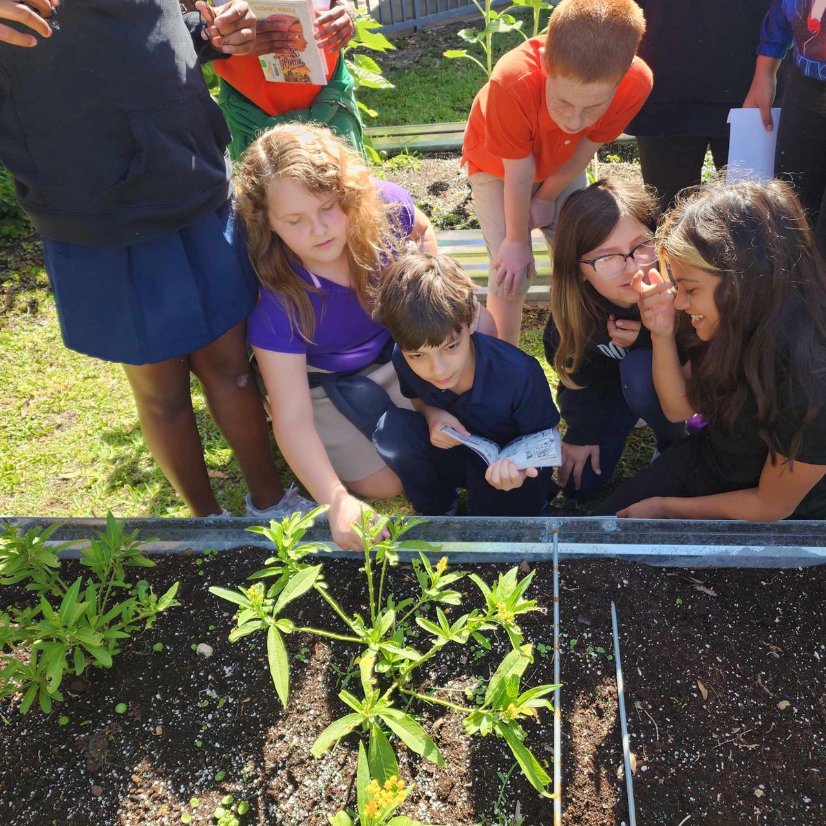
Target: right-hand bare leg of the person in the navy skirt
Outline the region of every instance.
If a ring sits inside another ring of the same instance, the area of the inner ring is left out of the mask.
[[[192,373],[207,397],[212,418],[235,454],[253,505],[266,509],[284,495],[263,405],[246,353],[246,324],[190,354]]]

